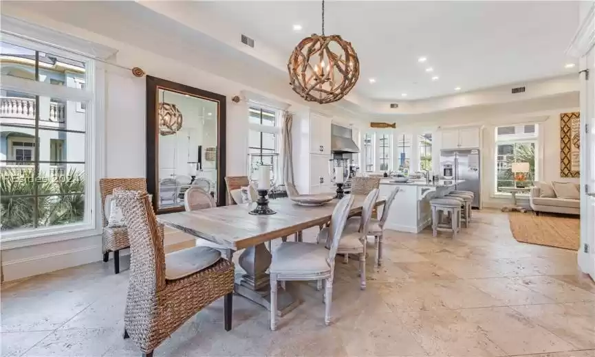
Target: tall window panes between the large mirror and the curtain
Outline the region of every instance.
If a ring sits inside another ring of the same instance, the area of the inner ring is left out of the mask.
[[[277,113],[266,108],[248,108],[248,119],[250,121],[250,134],[248,135],[248,153],[260,154],[251,155],[252,168],[257,165],[270,165],[274,177],[279,177],[281,170],[279,162],[274,160],[271,154],[279,154],[279,137],[281,131],[277,120]],[[277,163],[277,167],[275,167]],[[257,180],[257,171],[250,173],[252,180]],[[279,184],[280,182],[277,182]]]

